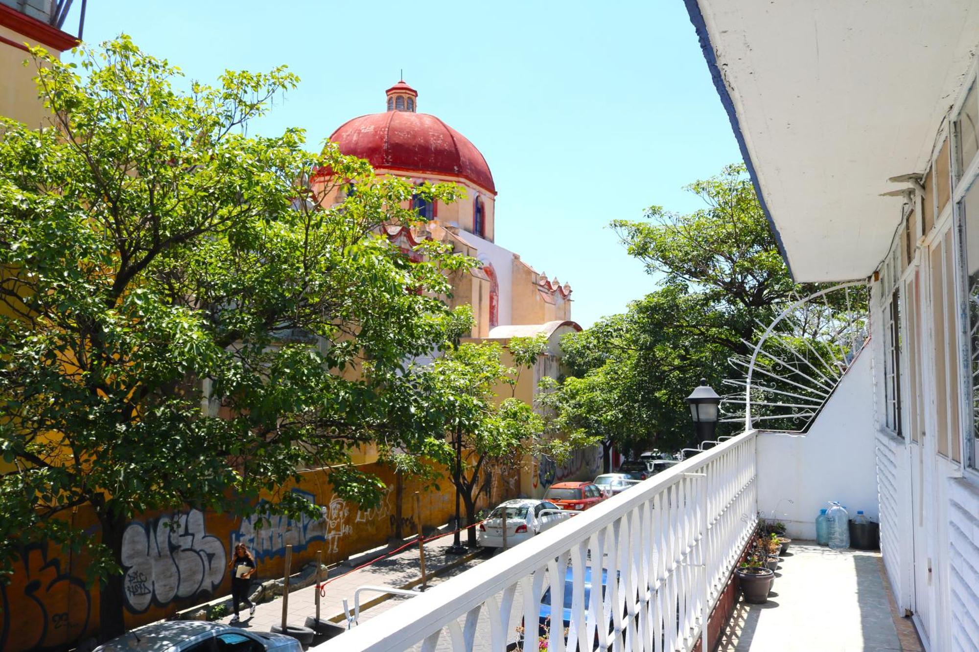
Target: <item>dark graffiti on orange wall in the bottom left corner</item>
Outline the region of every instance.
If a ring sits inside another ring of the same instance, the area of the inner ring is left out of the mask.
[[[27,546],[14,564],[12,582],[0,583],[0,650],[67,649],[88,629],[92,600],[85,582],[72,577],[61,558],[48,555],[47,543]]]

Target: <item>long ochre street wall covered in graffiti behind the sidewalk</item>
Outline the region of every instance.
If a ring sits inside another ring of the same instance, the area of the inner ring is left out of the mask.
[[[323,470],[301,474],[301,482],[282,491],[300,491],[320,506],[323,518],[293,521],[270,517],[258,528],[259,517],[242,519],[230,514],[214,514],[183,509],[161,514],[149,512],[129,523],[122,541],[125,573],[125,622],[128,628],[151,623],[177,611],[227,595],[231,580],[226,564],[232,546],[246,543],[256,556],[257,577],[269,580],[282,577],[285,546],[293,545],[293,569],[312,561],[317,550],[325,563],[334,563],[351,554],[387,542],[396,525],[396,485],[394,473],[376,464],[362,465],[363,471],[376,473],[388,485],[381,504],[366,511],[335,495]],[[493,503],[518,492],[518,473],[496,477]],[[403,536],[417,531],[418,519],[425,526],[440,526],[454,510],[451,483],[440,483],[440,490],[422,492],[422,513],[414,511],[411,497],[421,484],[404,483],[401,511]],[[275,496],[265,496],[275,500]],[[487,506],[483,499],[480,506]],[[99,536],[99,527],[88,505],[70,517],[89,536]],[[8,585],[0,584],[0,650],[67,649],[97,631],[99,591],[85,582],[88,560],[47,543],[31,545],[15,561]]]

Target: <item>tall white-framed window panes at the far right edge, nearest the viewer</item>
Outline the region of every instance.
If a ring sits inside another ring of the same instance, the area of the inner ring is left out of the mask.
[[[968,436],[965,438],[965,460],[977,467],[976,448],[979,442],[979,178],[975,160],[979,153],[979,92],[975,76],[968,84],[962,104],[956,110],[955,129],[956,217],[959,226],[961,264],[964,267],[965,300],[967,302],[967,337],[969,365],[967,393],[969,401]]]

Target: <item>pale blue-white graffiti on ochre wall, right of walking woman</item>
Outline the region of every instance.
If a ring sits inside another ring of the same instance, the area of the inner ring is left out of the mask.
[[[293,489],[293,492],[311,503],[316,502],[312,493],[301,489]],[[327,540],[324,519],[311,519],[308,516],[292,519],[279,514],[269,514],[260,508],[262,503],[267,504],[267,502],[262,500],[255,514],[242,519],[238,531],[231,533],[232,545],[244,543],[256,559],[265,559],[286,554],[287,545],[293,546],[293,552],[302,552],[311,541]],[[332,512],[332,504],[331,502],[328,512]]]

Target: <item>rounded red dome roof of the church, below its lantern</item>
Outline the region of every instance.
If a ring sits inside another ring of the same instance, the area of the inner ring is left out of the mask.
[[[408,111],[359,116],[330,140],[374,167],[459,176],[496,194],[489,165],[476,146],[436,116]]]

